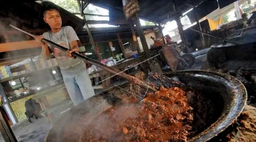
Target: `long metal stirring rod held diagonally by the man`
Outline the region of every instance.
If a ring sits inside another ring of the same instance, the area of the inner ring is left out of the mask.
[[[15,29],[17,29],[17,30],[19,30],[20,32],[23,32],[23,33],[28,34],[28,35],[30,35],[32,37],[35,37],[35,35],[30,34],[30,33],[26,32],[26,31],[24,31],[24,30],[22,30],[20,28],[17,28],[17,27],[12,26],[12,25],[10,25],[10,26],[15,28]],[[56,47],[56,48],[58,48],[58,49],[60,49],[62,51],[65,51],[65,52],[69,50],[69,49],[67,49],[67,48],[65,48],[63,46],[60,46],[59,44],[56,44],[56,43],[54,43],[52,41],[49,41],[49,40],[47,40],[45,38],[43,38],[41,41],[43,41],[45,43],[48,43],[48,44],[52,45],[53,47]],[[147,83],[143,82],[142,80],[140,80],[138,78],[135,78],[135,77],[133,77],[131,75],[128,75],[128,74],[126,74],[124,72],[118,72],[115,69],[113,69],[113,68],[111,68],[111,67],[109,67],[109,66],[107,66],[105,64],[101,64],[100,62],[95,61],[95,60],[93,60],[91,58],[88,58],[86,56],[83,56],[83,55],[81,55],[79,53],[72,52],[71,54],[74,57],[77,57],[77,58],[79,58],[81,60],[84,60],[84,61],[86,61],[88,63],[94,64],[95,66],[98,66],[98,67],[100,67],[100,68],[102,68],[102,69],[104,69],[106,71],[109,71],[109,72],[111,72],[113,74],[117,74],[118,76],[120,76],[122,78],[126,78],[128,81],[130,81],[130,82],[132,82],[132,83],[134,83],[134,84],[136,84],[136,85],[138,85],[138,86],[140,86],[140,87],[142,87],[144,89],[150,89],[151,91],[154,91],[154,92],[156,91],[156,89],[154,89],[152,86],[149,86]]]

